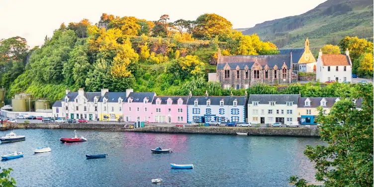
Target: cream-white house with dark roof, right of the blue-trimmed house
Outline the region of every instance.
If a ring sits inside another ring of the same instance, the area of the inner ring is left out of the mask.
[[[248,98],[248,121],[256,124],[297,121],[298,97],[290,94],[251,94]]]

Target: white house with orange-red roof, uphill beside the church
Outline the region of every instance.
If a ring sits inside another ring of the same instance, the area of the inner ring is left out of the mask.
[[[352,82],[352,62],[348,48],[346,54],[322,54],[319,50],[316,78],[320,82]]]

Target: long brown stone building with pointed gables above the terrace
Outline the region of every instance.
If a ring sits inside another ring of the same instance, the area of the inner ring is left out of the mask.
[[[222,88],[236,90],[259,83],[274,85],[297,81],[297,72],[292,72],[292,53],[221,56],[218,49],[216,76]]]

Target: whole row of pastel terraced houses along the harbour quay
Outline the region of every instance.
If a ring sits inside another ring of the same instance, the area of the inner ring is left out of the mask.
[[[55,117],[100,121],[144,121],[149,123],[219,122],[315,124],[318,106],[328,113],[338,97],[293,95],[157,96],[156,93],[66,91],[52,107]],[[357,106],[361,106],[358,99]]]

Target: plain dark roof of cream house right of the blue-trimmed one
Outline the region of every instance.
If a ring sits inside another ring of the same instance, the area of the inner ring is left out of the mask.
[[[297,94],[262,94],[262,95],[249,95],[248,103],[252,101],[259,101],[259,104],[269,104],[275,101],[276,104],[286,104],[286,102],[293,102],[297,104],[299,95]]]

